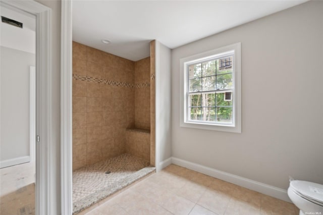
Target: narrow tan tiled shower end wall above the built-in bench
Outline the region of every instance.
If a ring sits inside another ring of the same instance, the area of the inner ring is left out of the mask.
[[[150,57],[135,62],[135,127],[150,130]]]

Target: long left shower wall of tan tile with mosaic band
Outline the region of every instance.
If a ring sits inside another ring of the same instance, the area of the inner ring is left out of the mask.
[[[73,42],[73,170],[125,152],[135,63]]]

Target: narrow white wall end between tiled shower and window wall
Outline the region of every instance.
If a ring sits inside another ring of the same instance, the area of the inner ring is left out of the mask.
[[[171,49],[156,41],[156,160],[157,171],[163,169],[160,162],[172,156],[171,151]],[[160,166],[161,165],[161,166]]]

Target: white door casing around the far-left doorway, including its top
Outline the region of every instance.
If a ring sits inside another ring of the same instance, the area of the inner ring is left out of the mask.
[[[50,190],[55,177],[50,174],[51,148],[51,9],[35,1],[1,1],[36,17],[36,214],[52,214]]]

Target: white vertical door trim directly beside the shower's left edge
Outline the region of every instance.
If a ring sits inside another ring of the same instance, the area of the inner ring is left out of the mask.
[[[61,4],[61,211],[72,214],[72,2]]]

